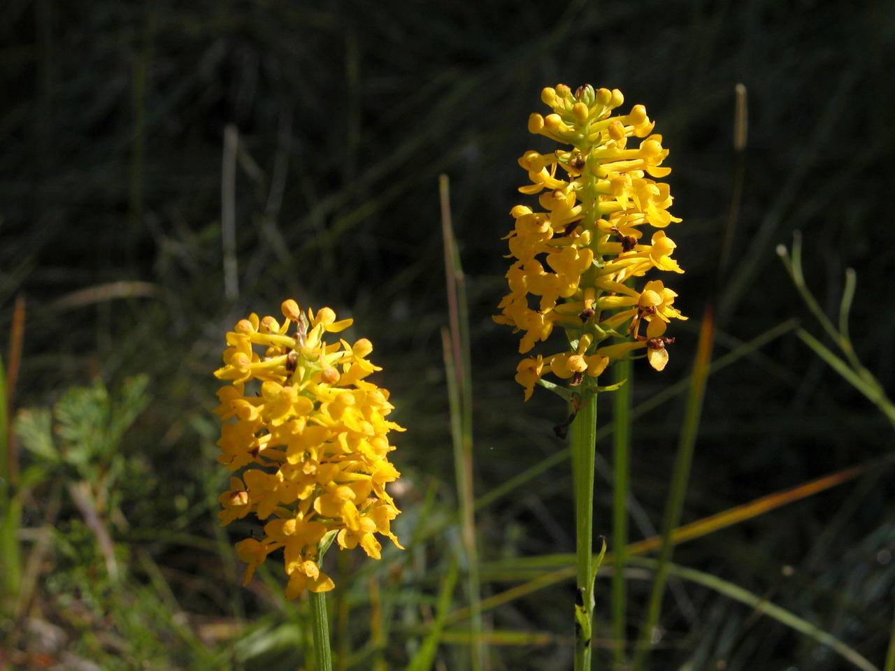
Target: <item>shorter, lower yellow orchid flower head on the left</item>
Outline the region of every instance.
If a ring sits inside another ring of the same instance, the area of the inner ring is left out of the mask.
[[[390,529],[400,511],[385,486],[399,475],[388,461],[395,448],[387,434],[404,429],[385,419],[393,408],[388,391],[364,379],[379,370],[366,359],[370,341],[323,341],[351,319],[337,321],[329,308],[305,317],[291,299],[281,308],[282,324],[254,313],[240,319],[226,335],[225,365],[215,371],[230,382],[217,392],[215,412],[225,422],[217,461],[230,471],[248,467],[230,479],[218,515],[223,524],[249,513],[274,518],[236,551],[248,583],[268,554],[283,548],[286,599],[294,599],[305,589],[333,589],[319,562],[333,535],[340,548],[360,545],[376,559],[374,533],[401,548]]]

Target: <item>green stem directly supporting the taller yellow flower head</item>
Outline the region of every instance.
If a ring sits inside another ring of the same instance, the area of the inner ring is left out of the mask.
[[[575,481],[575,671],[590,671],[593,626],[593,461],[597,395],[585,395],[572,422],[570,449]]]

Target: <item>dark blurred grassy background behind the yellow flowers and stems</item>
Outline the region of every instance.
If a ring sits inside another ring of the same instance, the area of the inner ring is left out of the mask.
[[[405,667],[425,645],[459,538],[439,174],[451,180],[469,295],[475,492],[565,449],[551,427],[566,409],[543,390],[522,404],[516,337],[490,320],[507,213],[528,198],[516,192],[516,157],[548,145],[525,131],[543,86],[618,87],[646,105],[671,150],[686,268],[674,288],[691,320],[662,374],[635,366],[635,404],[693,360],[733,188],[737,82],[749,92],[749,142],[715,356],[808,316],[774,254],[798,229],[807,280],[830,313],[844,268],[856,268],[855,349],[892,389],[895,5],[8,0],[2,14],[0,333],[17,378],[11,417],[31,409],[30,440],[15,440],[18,480],[7,472],[22,493],[20,598],[0,620],[7,667],[303,664],[303,606],[281,600],[278,567],[238,585],[214,514],[226,472],[214,462],[211,371],[236,319],[276,314],[286,297],[354,317],[408,429],[394,454],[408,550],[379,563],[328,556],[345,586],[330,600],[341,667]],[[234,222],[232,243],[222,220]],[[635,420],[634,540],[661,522],[682,407],[676,397]],[[598,456],[606,475],[609,445]],[[782,335],[710,378],[684,521],[891,446],[882,413]],[[882,667],[895,582],[889,480],[890,466],[874,467],[684,545],[675,560]],[[607,537],[610,497],[598,476],[596,531]],[[483,594],[544,570],[500,561],[572,552],[571,510],[566,463],[483,506]],[[631,635],[648,575],[630,573]],[[451,611],[466,603],[458,584],[444,596]],[[598,637],[608,584],[598,579]],[[843,668],[829,647],[716,590],[669,588],[654,668]],[[486,611],[490,668],[568,667],[571,595],[560,582]],[[465,668],[464,621],[446,627],[435,667]]]

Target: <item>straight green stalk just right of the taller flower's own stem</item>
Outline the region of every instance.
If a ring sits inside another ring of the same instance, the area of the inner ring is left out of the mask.
[[[628,451],[631,446],[631,361],[616,363],[616,380],[627,380],[613,395],[613,487],[612,487],[612,642],[615,667],[625,667]]]

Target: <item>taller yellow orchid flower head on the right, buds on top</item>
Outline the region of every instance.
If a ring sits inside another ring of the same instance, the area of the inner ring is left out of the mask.
[[[669,152],[661,135],[651,134],[646,108],[612,115],[624,101],[621,91],[590,85],[573,93],[559,84],[543,89],[541,100],[553,112],[531,115],[529,132],[570,149],[526,151],[519,159],[532,181],[519,191],[540,193],[545,211],[517,205],[510,212],[516,226],[507,235],[508,258],[516,261],[494,320],[524,333],[520,353],[547,340],[555,326],[565,329],[568,346],[519,362],[516,381],[526,401],[547,372],[572,386],[595,387],[609,363],[637,350],[646,351],[652,368],[665,368],[666,346],[674,342],[664,335],[666,324],[686,319],[673,306],[678,294],[661,280],[640,291],[626,285],[652,268],[684,272],[671,259],[675,243],[664,231],[680,219],[668,211],[669,185],[655,181],[671,172],[661,166]],[[635,138],[639,146],[629,146]],[[604,344],[609,338],[621,342]]]

